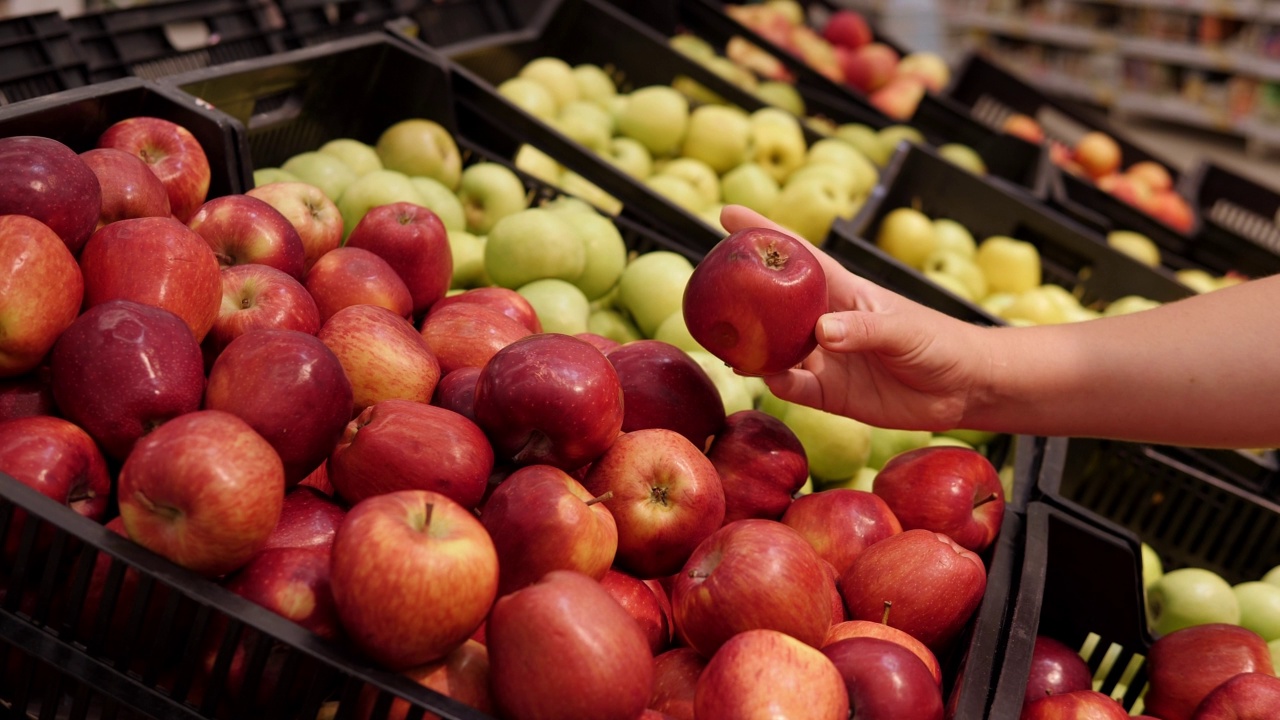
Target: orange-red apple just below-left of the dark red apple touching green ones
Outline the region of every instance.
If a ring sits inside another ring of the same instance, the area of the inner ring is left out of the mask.
[[[307,270],[306,288],[320,310],[320,322],[351,305],[378,305],[402,318],[413,313],[413,299],[387,260],[358,247],[325,252]]]

